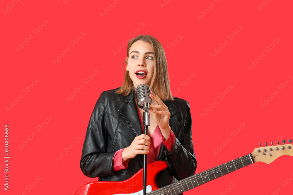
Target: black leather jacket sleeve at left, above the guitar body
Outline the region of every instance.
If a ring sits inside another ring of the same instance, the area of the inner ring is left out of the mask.
[[[107,152],[105,98],[102,93],[96,102],[86,130],[80,168],[88,177],[114,175],[112,162],[115,152]]]

